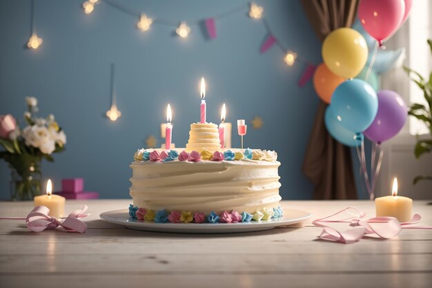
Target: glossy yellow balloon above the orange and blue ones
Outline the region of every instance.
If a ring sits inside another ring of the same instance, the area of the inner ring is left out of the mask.
[[[353,78],[359,75],[368,59],[366,40],[351,28],[333,30],[322,44],[322,59],[335,75]]]

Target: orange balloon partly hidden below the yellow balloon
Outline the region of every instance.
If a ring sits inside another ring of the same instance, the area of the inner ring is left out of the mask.
[[[313,87],[322,101],[327,104],[330,104],[331,102],[333,91],[343,81],[345,81],[344,78],[334,75],[324,63],[318,66],[313,75]]]

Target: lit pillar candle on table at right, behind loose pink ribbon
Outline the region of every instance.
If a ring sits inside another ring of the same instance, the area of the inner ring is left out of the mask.
[[[392,216],[399,222],[408,222],[411,220],[411,208],[413,200],[411,198],[397,195],[397,179],[393,180],[393,189],[391,196],[384,196],[375,199],[377,217]]]

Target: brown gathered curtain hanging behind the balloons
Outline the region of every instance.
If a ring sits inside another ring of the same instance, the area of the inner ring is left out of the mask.
[[[324,41],[332,30],[351,27],[357,0],[302,0],[313,30]],[[310,135],[303,173],[315,186],[313,199],[356,199],[350,148],[328,135],[326,104],[320,103]]]

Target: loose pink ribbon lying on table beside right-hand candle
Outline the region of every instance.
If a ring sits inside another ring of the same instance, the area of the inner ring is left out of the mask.
[[[348,218],[328,220],[328,218],[333,218],[344,212],[350,214],[351,216]],[[314,220],[312,224],[317,227],[324,228],[318,238],[322,240],[342,242],[345,244],[357,242],[367,234],[375,234],[379,238],[389,239],[397,236],[397,234],[399,234],[402,229],[432,229],[432,227],[406,226],[420,222],[422,217],[418,214],[413,215],[411,221],[402,223],[394,217],[374,217],[364,219],[364,216],[365,213],[359,211],[357,208],[346,207],[345,209],[342,209],[333,215]],[[340,232],[324,223],[350,223],[352,228]]]

